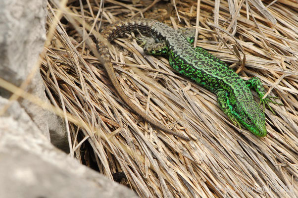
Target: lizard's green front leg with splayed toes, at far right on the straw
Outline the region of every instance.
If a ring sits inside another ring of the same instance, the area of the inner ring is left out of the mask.
[[[246,83],[246,85],[248,86],[249,89],[253,89],[257,93],[257,95],[260,99],[259,105],[263,104],[263,112],[265,112],[265,105],[267,104],[269,109],[275,114],[275,112],[273,111],[273,109],[269,105],[269,102],[272,102],[273,104],[284,105],[283,103],[278,103],[278,102],[275,102],[275,101],[270,99],[270,98],[278,99],[278,97],[267,96],[266,98],[263,99],[266,92],[265,92],[265,89],[263,87],[263,84],[262,84],[261,80],[258,77],[250,78],[245,83]]]

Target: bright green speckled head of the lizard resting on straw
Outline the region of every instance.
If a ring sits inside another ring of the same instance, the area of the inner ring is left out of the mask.
[[[241,101],[236,105],[234,116],[254,135],[265,137],[267,135],[265,114],[256,101]]]

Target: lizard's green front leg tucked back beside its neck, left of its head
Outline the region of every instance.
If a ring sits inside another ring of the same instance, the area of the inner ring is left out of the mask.
[[[241,128],[239,121],[233,114],[233,106],[228,97],[228,93],[224,90],[219,90],[216,92],[216,95],[217,95],[217,102],[221,110],[230,118],[230,120],[233,122],[235,126],[239,126],[239,128]]]

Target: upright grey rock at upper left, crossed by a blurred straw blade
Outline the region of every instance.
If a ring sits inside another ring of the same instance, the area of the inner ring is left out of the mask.
[[[26,91],[47,100],[38,69],[39,54],[46,40],[47,0],[0,0],[0,78],[20,86],[34,72]],[[0,96],[10,92],[0,88]],[[27,101],[19,100],[41,132],[59,148],[67,146],[64,122]],[[67,148],[67,147],[66,147]]]

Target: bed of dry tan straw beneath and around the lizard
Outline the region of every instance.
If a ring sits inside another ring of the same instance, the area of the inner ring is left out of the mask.
[[[122,182],[141,197],[298,196],[295,2],[201,0],[199,13],[191,0],[106,0],[103,10],[99,0],[80,2],[50,0],[41,66],[51,102],[64,110],[70,155],[111,179],[124,172]],[[197,45],[230,64],[240,58],[232,45],[242,46],[246,60],[239,75],[259,77],[268,94],[285,104],[272,104],[276,115],[265,110],[267,137],[235,127],[215,95],[178,75],[166,58],[144,55],[129,36],[110,46],[122,89],[150,117],[192,141],[155,130],[131,113],[86,41],[98,39],[99,29],[111,22],[140,14],[176,29],[199,19]]]

